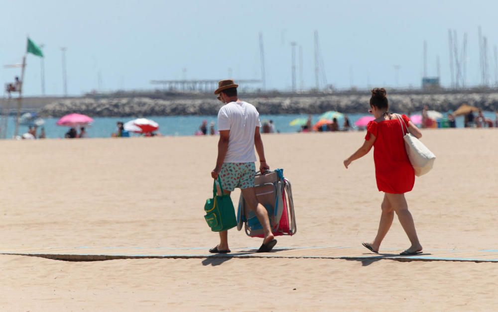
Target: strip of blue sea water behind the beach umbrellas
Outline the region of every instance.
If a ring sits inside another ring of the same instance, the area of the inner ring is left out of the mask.
[[[420,113],[420,112],[418,112]],[[417,113],[414,113],[417,114]],[[350,124],[354,126],[355,121],[359,118],[366,116],[367,114],[348,114]],[[444,113],[446,116],[447,114]],[[477,114],[476,114],[477,115]],[[495,121],[495,113],[492,111],[484,112],[487,118]],[[312,115],[313,123],[319,120],[320,115]],[[273,120],[275,128],[280,133],[293,133],[300,130],[299,126],[291,126],[289,123],[296,118],[307,118],[307,114],[280,114],[280,115],[260,115],[261,121]],[[172,135],[172,136],[185,136],[194,135],[196,131],[199,130],[200,125],[204,120],[208,122],[208,133],[209,125],[211,122],[215,123],[215,129],[217,130],[217,116],[145,116],[145,118],[152,119],[159,124],[158,133],[162,135]],[[45,128],[45,133],[47,138],[63,138],[64,134],[68,131],[68,127],[57,126],[56,122],[59,118],[45,118],[42,127]],[[130,117],[96,117],[94,122],[86,128],[88,136],[93,138],[110,137],[113,132],[117,131],[116,123],[118,121],[129,121],[133,118]],[[340,128],[342,128],[344,119],[339,118],[338,120]],[[458,116],[456,118],[457,127],[464,126],[464,117]],[[8,118],[7,124],[7,138],[13,137],[15,128],[15,116],[10,116]],[[38,133],[40,133],[40,128],[38,128]],[[354,127],[355,129],[356,127]],[[357,129],[357,128],[356,128]],[[22,135],[28,130],[27,125],[19,126],[19,135]],[[79,129],[78,129],[79,132]],[[135,134],[132,134],[135,135]]]

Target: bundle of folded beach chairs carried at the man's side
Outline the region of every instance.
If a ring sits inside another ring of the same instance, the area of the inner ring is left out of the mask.
[[[266,208],[273,235],[294,235],[297,232],[292,187],[283,176],[283,169],[257,173],[254,177],[254,191],[258,202]],[[237,209],[237,229],[244,227],[250,237],[264,237],[263,226],[254,211],[246,209],[241,194]]]

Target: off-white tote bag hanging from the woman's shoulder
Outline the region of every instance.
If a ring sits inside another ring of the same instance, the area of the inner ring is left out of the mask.
[[[415,175],[417,177],[423,176],[424,174],[431,171],[436,156],[416,137],[411,135],[408,131],[408,127],[404,122],[403,118],[396,114],[396,118],[401,124],[401,131],[403,132],[403,140],[405,142],[406,154],[410,159],[410,163],[415,169]],[[404,125],[404,127],[403,127]],[[404,129],[406,129],[406,134]]]

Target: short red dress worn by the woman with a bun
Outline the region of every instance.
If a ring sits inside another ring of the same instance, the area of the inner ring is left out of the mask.
[[[402,115],[402,118],[408,125],[410,119],[406,115]],[[373,143],[373,162],[380,192],[403,194],[410,192],[415,184],[415,171],[406,154],[403,132],[396,117],[380,122],[370,121],[367,125],[365,139],[369,140],[371,133],[376,138]]]

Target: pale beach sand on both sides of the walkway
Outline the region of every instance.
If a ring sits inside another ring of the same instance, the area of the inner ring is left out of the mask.
[[[280,247],[372,240],[382,193],[363,132],[263,136],[292,182],[298,233]],[[406,195],[426,250],[498,249],[498,131],[423,131],[435,167]],[[203,247],[216,137],[0,141],[0,251]],[[239,192],[234,192],[238,202]],[[229,231],[232,248],[260,239]],[[382,248],[408,247],[397,219]],[[366,250],[366,252],[368,252]],[[498,252],[497,252],[498,253]],[[498,263],[331,259],[66,262],[0,255],[2,311],[494,310]]]

